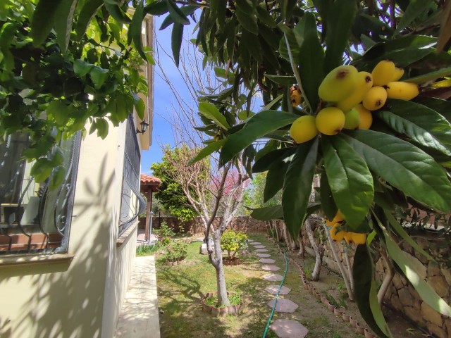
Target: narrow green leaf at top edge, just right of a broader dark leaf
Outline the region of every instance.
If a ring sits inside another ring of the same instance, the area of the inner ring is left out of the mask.
[[[66,52],[68,49],[77,3],[78,0],[62,1],[56,10],[54,29],[56,32],[56,41],[63,52]]]

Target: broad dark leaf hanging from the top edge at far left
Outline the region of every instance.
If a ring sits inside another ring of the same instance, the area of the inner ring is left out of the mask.
[[[54,27],[55,14],[63,0],[39,0],[33,13],[31,37],[33,44],[42,44]]]

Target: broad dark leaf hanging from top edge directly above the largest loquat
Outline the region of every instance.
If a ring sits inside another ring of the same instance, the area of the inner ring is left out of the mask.
[[[348,44],[352,23],[357,10],[354,0],[335,1],[326,17],[326,57],[324,72],[343,64],[343,51]]]

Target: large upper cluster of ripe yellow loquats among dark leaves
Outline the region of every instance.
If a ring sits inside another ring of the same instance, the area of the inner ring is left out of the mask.
[[[411,100],[419,94],[416,84],[398,81],[402,75],[404,70],[388,60],[379,62],[371,74],[359,72],[352,65],[331,70],[318,89],[319,97],[330,106],[321,109],[316,117],[306,115],[295,120],[290,128],[292,139],[299,144],[320,132],[335,135],[343,128],[369,129],[373,123],[371,111],[382,108],[387,99]],[[297,106],[301,101],[299,89],[290,90],[290,97]]]

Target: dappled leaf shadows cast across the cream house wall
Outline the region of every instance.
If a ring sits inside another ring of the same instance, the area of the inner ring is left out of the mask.
[[[89,225],[77,223],[74,219],[71,229],[73,238],[70,238],[69,243],[69,252],[75,255],[73,261],[49,265],[19,265],[0,270],[0,289],[13,287],[11,292],[16,295],[9,299],[20,299],[22,304],[22,315],[11,318],[13,321],[9,324],[12,328],[0,320],[2,338],[100,337],[104,262],[108,255],[108,234],[111,227],[111,211],[108,210],[107,199],[113,183],[113,174],[104,177],[105,168],[106,158],[101,162],[97,182],[85,180],[83,200],[75,200],[76,219],[89,217]],[[80,239],[83,235],[80,232],[86,234],[85,239]],[[27,275],[30,277],[25,277]],[[17,282],[16,286],[12,285],[11,279]],[[24,291],[25,287],[27,290]],[[29,299],[23,299],[20,294],[27,294],[30,289],[35,291]],[[1,306],[8,304],[2,301]],[[11,308],[16,306],[11,304]],[[33,326],[32,329],[30,325]]]

